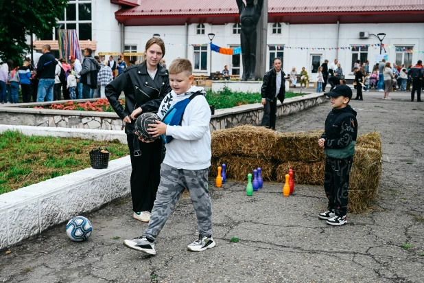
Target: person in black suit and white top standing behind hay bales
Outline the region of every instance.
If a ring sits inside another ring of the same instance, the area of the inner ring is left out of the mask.
[[[276,121],[276,98],[284,102],[285,98],[285,73],[281,70],[281,59],[275,58],[270,69],[263,76],[261,88],[263,117],[261,126],[275,130]]]

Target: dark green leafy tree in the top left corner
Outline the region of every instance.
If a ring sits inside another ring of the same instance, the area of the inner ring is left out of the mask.
[[[51,33],[68,0],[0,0],[0,58],[22,63],[27,36]]]

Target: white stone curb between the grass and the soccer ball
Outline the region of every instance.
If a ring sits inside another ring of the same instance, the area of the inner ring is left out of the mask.
[[[68,129],[69,130],[69,129]],[[0,249],[130,193],[130,156],[0,195]]]

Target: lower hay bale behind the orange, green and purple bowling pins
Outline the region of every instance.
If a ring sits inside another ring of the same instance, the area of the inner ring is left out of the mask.
[[[226,164],[226,177],[235,181],[247,181],[247,174],[253,174],[253,170],[260,167],[262,178],[265,181],[274,180],[274,161],[263,158],[238,157],[228,155],[224,157],[212,157],[211,171],[209,176],[216,177],[217,168],[222,163]]]

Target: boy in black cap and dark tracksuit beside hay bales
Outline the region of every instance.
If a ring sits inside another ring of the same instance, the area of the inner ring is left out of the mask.
[[[318,145],[327,155],[324,190],[329,204],[327,211],[318,217],[327,220],[329,225],[338,226],[347,223],[349,173],[355,153],[357,120],[356,111],[348,105],[352,98],[350,87],[340,84],[326,94],[331,97],[333,110],[325,120],[325,132]]]

